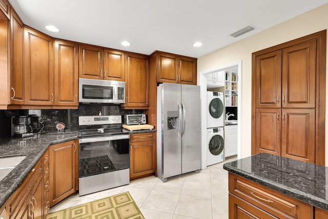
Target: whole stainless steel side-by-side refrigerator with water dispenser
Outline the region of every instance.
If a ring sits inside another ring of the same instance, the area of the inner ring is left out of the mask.
[[[168,178],[201,168],[200,87],[157,87],[157,175]]]

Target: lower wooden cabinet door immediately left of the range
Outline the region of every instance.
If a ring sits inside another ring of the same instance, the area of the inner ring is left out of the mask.
[[[50,206],[75,193],[76,151],[75,141],[50,146]]]

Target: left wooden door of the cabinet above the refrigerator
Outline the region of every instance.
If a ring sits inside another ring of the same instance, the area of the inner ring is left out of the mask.
[[[163,52],[158,53],[157,82],[178,83],[177,55]]]

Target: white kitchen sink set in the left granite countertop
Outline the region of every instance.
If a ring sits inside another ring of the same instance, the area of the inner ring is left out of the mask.
[[[0,181],[5,178],[20,162],[25,159],[26,155],[0,156]]]

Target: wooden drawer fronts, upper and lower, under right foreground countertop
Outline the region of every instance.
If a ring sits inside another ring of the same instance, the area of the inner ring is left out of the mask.
[[[229,218],[308,219],[313,206],[229,173]]]

